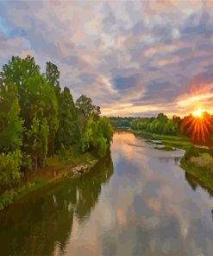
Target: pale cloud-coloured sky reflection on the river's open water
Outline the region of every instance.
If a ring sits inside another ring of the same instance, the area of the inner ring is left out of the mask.
[[[132,134],[115,135],[114,175],[103,185],[90,220],[73,221],[67,254],[212,255],[212,200],[185,181],[171,157],[181,151],[146,145]]]

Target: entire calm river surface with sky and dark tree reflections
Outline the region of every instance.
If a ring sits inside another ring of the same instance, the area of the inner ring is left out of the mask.
[[[111,154],[0,213],[0,254],[213,255],[213,200],[164,151],[117,132]]]

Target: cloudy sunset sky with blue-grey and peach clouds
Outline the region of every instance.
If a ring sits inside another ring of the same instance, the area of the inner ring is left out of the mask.
[[[108,116],[212,112],[213,1],[0,1],[0,67],[53,61]]]

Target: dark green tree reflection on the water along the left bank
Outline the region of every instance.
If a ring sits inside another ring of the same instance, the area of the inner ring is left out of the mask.
[[[2,255],[63,255],[72,233],[73,215],[88,216],[97,202],[103,182],[113,173],[105,157],[79,179],[66,180],[29,196],[0,214]]]

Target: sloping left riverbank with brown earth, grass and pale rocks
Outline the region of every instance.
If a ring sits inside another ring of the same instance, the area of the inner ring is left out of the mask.
[[[0,195],[0,210],[9,207],[10,204],[20,200],[23,196],[41,189],[51,182],[64,177],[77,178],[90,171],[98,162],[98,158],[91,153],[77,154],[74,156],[68,151],[63,156],[55,155],[47,157],[46,167],[31,173],[25,182],[14,189],[9,189]]]

